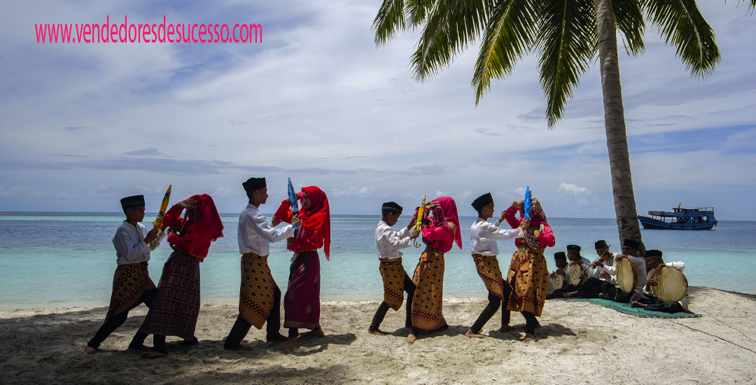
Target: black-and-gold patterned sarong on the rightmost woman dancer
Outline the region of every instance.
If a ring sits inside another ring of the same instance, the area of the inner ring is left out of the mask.
[[[549,270],[544,249],[531,249],[525,244],[520,246],[512,256],[507,281],[512,287],[507,310],[531,312],[541,317],[549,291]]]

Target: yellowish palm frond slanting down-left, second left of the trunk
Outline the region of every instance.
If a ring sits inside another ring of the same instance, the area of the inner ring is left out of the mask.
[[[530,51],[538,30],[537,0],[500,0],[496,2],[480,45],[472,86],[476,105],[491,87],[491,79],[501,79],[523,54]]]

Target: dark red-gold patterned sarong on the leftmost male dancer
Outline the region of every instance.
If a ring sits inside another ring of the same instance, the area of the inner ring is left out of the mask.
[[[113,275],[113,293],[110,294],[110,309],[107,309],[105,324],[113,315],[137,307],[141,303],[141,295],[154,288],[147,262],[119,265]]]

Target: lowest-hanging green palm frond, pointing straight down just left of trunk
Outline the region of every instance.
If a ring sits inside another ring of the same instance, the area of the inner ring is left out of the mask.
[[[596,12],[591,0],[544,0],[537,45],[549,127],[562,119],[565,101],[598,53]]]

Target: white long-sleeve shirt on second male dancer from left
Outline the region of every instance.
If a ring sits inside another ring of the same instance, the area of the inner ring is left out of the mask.
[[[274,228],[252,203],[247,204],[239,215],[237,240],[240,254],[255,253],[259,256],[267,256],[271,253],[271,242],[282,241],[293,236],[293,225]]]

